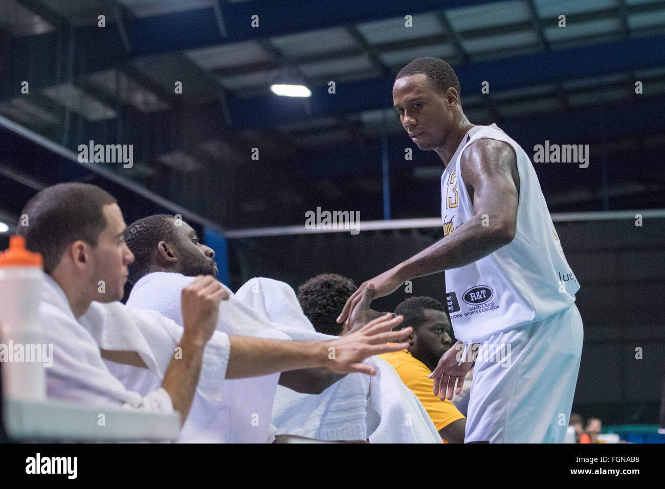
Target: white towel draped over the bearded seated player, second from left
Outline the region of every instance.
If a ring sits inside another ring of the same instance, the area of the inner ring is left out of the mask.
[[[178,273],[155,272],[138,280],[127,301],[127,306],[158,311],[174,320],[182,331],[181,294],[194,277]],[[227,289],[228,290],[228,289]],[[227,334],[289,340],[269,324],[261,320],[250,308],[242,304],[233,292],[228,290],[229,300],[219,303],[217,331],[227,338]],[[148,313],[144,311],[145,313]],[[156,313],[152,313],[156,314]],[[166,342],[166,332],[156,343]],[[207,349],[207,347],[206,347]],[[107,365],[124,385],[139,392],[149,391],[160,382],[160,377],[152,375],[146,369],[119,365],[108,362]],[[270,417],[279,381],[279,373],[248,377],[245,379],[225,379],[226,365],[219,365],[213,355],[203,357],[201,379],[215,379],[219,391],[214,396],[201,392],[201,381],[190,415],[180,434],[180,441],[207,442],[271,442],[275,433],[270,431]]]

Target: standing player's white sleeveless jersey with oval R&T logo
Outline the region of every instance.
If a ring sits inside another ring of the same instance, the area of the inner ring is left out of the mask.
[[[460,159],[464,150],[481,138],[513,147],[519,172],[519,203],[517,232],[509,245],[473,263],[446,270],[450,320],[455,336],[467,344],[565,310],[575,302],[579,290],[531,160],[496,124],[471,128],[441,177],[444,235],[456,232],[475,214],[460,173]],[[488,224],[496,219],[491,214],[483,217]]]

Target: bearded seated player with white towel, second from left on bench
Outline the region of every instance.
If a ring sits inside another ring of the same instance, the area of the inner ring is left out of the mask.
[[[129,265],[129,281],[134,286],[127,306],[156,310],[180,323],[180,291],[197,274],[217,274],[213,250],[199,243],[190,225],[166,214],[139,219],[127,227],[124,236],[134,253],[134,262]],[[220,308],[217,331],[291,340],[226,290],[230,298]],[[257,355],[255,361],[264,360]],[[147,391],[160,380],[153,373],[131,365],[108,363],[108,367],[126,387],[138,391]],[[273,434],[268,431],[269,421],[278,383],[301,393],[319,394],[342,377],[343,373],[317,367],[227,381],[220,399],[195,397],[190,422],[181,438],[270,441]]]

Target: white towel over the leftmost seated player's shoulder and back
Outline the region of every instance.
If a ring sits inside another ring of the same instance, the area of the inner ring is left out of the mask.
[[[82,405],[138,409],[154,413],[172,413],[171,398],[159,385],[139,394],[128,390],[110,373],[100,353],[94,335],[78,322],[70,308],[65,292],[47,274],[39,303],[39,318],[45,343],[53,344],[53,366],[47,368],[47,395],[76,401]],[[106,304],[92,303],[93,314]],[[122,306],[120,304],[120,306]],[[119,321],[120,318],[115,318]],[[120,322],[98,324],[96,330],[112,337],[114,329],[123,328]]]

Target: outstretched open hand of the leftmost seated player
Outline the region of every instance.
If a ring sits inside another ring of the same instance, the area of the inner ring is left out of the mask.
[[[394,343],[409,336],[413,328],[390,331],[404,320],[404,316],[391,317],[385,314],[380,318],[368,322],[354,333],[348,333],[338,340],[324,342],[328,351],[328,362],[325,365],[334,373],[368,373],[374,375],[376,367],[369,363],[362,363],[367,357],[399,351],[408,348],[409,343]]]

